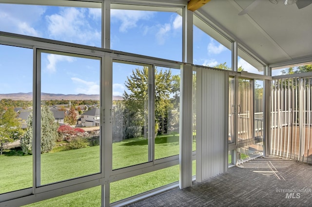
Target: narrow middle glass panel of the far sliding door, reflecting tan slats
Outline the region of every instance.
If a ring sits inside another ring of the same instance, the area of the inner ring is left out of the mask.
[[[253,138],[253,81],[238,80],[238,141],[249,141]]]

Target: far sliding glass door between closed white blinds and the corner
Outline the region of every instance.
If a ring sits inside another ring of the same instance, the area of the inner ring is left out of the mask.
[[[229,77],[229,164],[262,155],[263,81]]]

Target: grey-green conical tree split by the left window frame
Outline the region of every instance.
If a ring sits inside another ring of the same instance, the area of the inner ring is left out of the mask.
[[[29,116],[27,119],[27,130],[21,141],[21,147],[25,154],[32,154],[32,129],[33,117]],[[57,141],[59,124],[55,122],[53,113],[48,106],[41,107],[41,154],[47,153],[53,149]]]

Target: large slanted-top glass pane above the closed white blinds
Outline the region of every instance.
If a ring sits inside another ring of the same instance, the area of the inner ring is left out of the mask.
[[[232,70],[231,42],[217,34],[202,20],[195,17],[194,22],[196,26],[193,27],[193,63]]]

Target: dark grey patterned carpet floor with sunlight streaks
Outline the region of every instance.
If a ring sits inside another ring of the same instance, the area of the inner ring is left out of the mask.
[[[312,165],[260,157],[192,187],[175,188],[128,207],[312,207]]]

